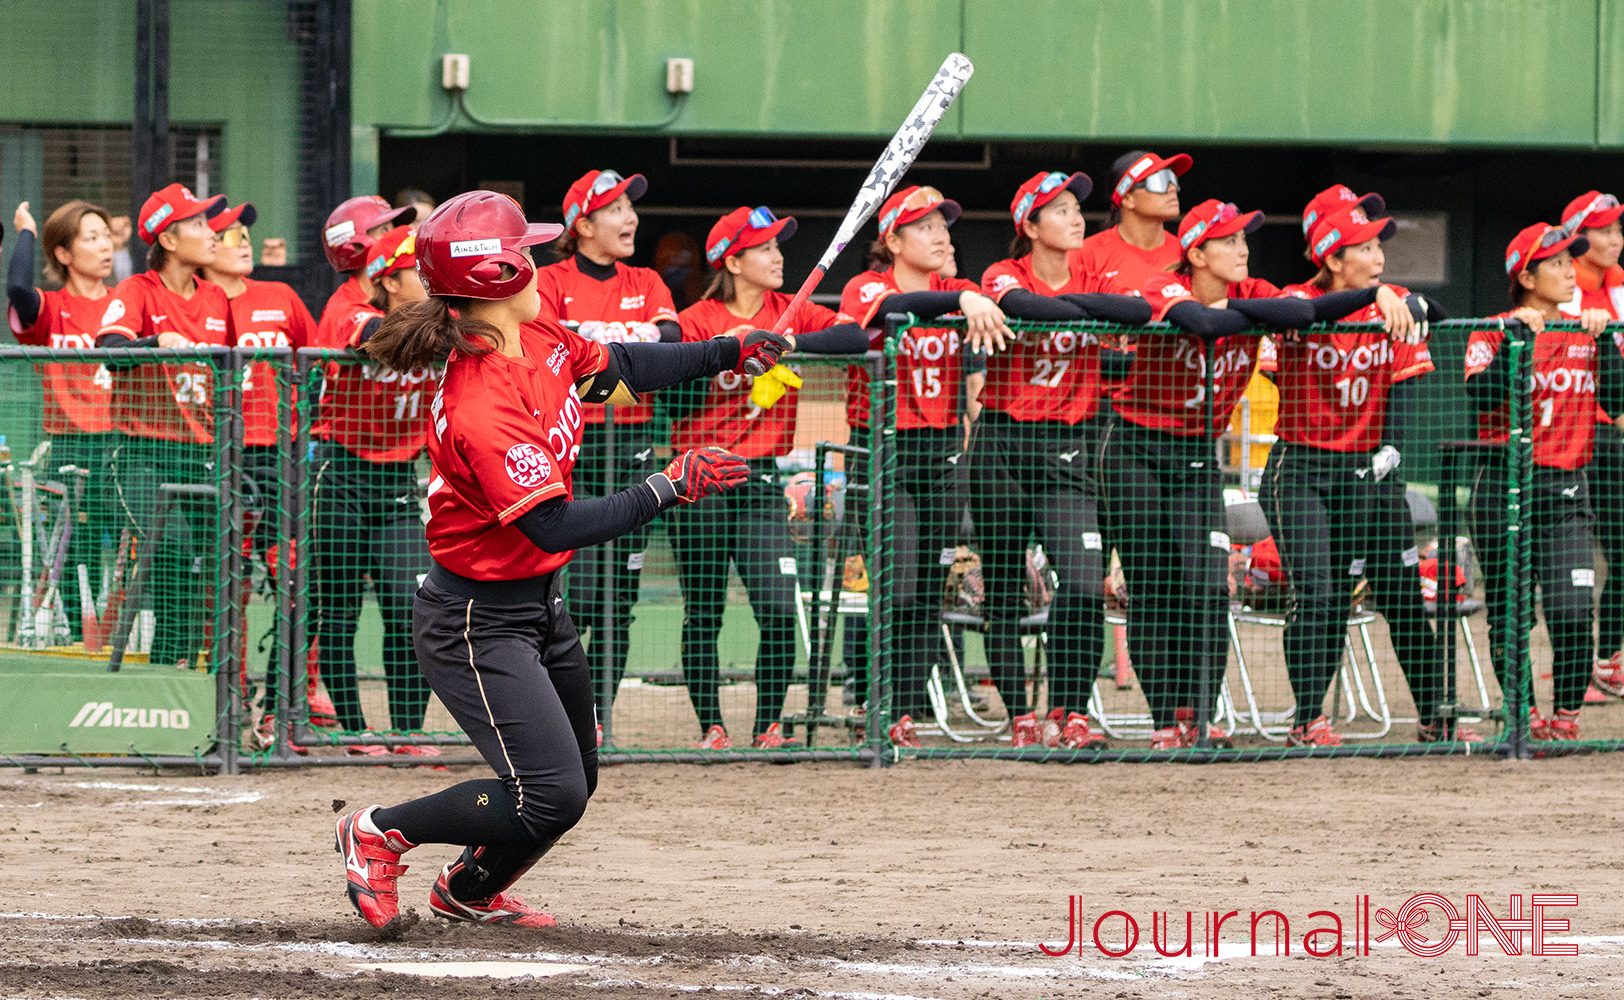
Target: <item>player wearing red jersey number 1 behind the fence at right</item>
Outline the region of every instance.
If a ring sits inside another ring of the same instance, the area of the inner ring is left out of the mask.
[[[1583,333],[1544,330],[1546,321],[1572,320],[1562,307],[1574,297],[1574,255],[1590,242],[1566,229],[1535,222],[1505,247],[1512,310],[1492,318],[1520,320],[1533,331],[1533,571],[1540,604],[1551,636],[1553,708],[1540,714],[1525,672],[1523,698],[1536,740],[1577,740],[1579,709],[1592,664],[1592,602],[1595,597],[1595,513],[1583,468],[1590,461],[1596,404],[1609,416],[1624,416],[1624,359],[1606,343],[1611,318],[1603,308],[1583,308]],[[1476,330],[1466,341],[1466,393],[1478,407],[1478,440],[1504,445],[1509,438],[1509,388],[1505,333]],[[1494,674],[1507,690],[1504,614],[1510,544],[1505,526],[1505,456],[1499,448],[1484,456],[1471,490],[1473,545],[1483,560],[1491,615]]]

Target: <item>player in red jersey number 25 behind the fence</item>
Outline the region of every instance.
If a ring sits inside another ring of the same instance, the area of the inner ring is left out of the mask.
[[[208,219],[226,209],[226,196],[198,201],[171,183],[143,205],[135,221],[146,242],[148,269],[119,282],[101,318],[97,347],[185,351],[234,343],[231,302],[197,276],[214,263],[219,240]],[[159,485],[219,485],[214,463],[214,367],[208,362],[135,362],[114,370],[114,489],[136,539],[162,531],[153,550],[156,628],[151,661],[195,662],[203,638],[206,583],[214,567],[218,500],[177,497],[164,524],[156,523]],[[149,544],[149,542],[148,542]],[[132,609],[133,610],[133,609]]]

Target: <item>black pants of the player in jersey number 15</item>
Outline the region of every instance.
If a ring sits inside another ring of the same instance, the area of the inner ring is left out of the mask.
[[[869,430],[851,429],[851,443],[869,448]],[[963,453],[960,430],[921,427],[898,430],[896,484],[892,494],[888,542],[893,555],[892,635],[893,644],[893,705],[892,718],[929,716],[926,680],[931,667],[944,659],[942,646],[942,596],[947,575],[953,568],[953,547],[958,542],[965,513]],[[846,463],[851,482],[867,482],[867,459]],[[846,516],[856,518],[857,532],[867,537],[867,495],[848,502]],[[836,567],[836,573],[840,568]],[[867,633],[869,617],[846,619],[846,636],[859,641],[846,643],[846,661],[859,666],[862,677],[857,700],[867,698]]]

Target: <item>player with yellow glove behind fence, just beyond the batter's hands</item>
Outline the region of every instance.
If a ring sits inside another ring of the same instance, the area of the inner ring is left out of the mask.
[[[705,240],[705,256],[716,276],[705,297],[677,317],[682,339],[771,330],[791,300],[778,291],[784,284],[778,244],[794,232],[793,218],[778,219],[765,206],[723,216]],[[869,347],[867,333],[851,317],[814,302],[801,307],[784,336],[793,351],[806,354],[862,354]],[[666,519],[682,583],[682,677],[698,714],[702,747],[729,745],[716,654],[729,562],[750,593],[760,628],[750,745],[793,744],[780,732],[778,718],[796,667],[796,550],[784,521],[784,476],[776,459],[794,446],[799,385],[796,372],[778,365],[760,377],[721,372],[667,394],[672,448],[716,445],[750,463],[745,485],[726,497],[679,506]]]

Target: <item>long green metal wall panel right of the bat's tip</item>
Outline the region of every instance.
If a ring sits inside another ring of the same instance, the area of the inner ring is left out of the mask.
[[[965,133],[1590,144],[1595,28],[1593,0],[965,0]]]

